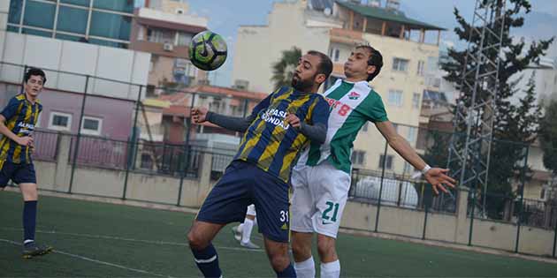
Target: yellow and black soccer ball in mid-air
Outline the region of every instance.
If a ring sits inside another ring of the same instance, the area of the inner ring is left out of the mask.
[[[225,64],[227,53],[223,37],[210,31],[196,34],[189,43],[189,59],[203,71],[217,70]]]

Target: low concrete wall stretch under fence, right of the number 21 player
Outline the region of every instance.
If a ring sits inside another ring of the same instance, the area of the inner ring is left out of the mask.
[[[456,214],[428,214],[425,239],[468,244],[470,219],[466,215],[467,199],[468,192],[461,191]],[[349,200],[340,227],[375,231],[377,209],[376,205]],[[381,206],[378,232],[422,238],[424,216],[423,211]],[[517,230],[515,224],[475,219],[472,230],[472,245],[474,246],[515,251]],[[535,255],[551,255],[553,237],[554,233],[551,229],[523,226],[518,251]]]

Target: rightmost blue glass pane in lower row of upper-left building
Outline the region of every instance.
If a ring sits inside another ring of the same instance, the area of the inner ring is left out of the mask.
[[[111,2],[120,3],[125,1]],[[97,3],[97,1],[95,1],[95,3]],[[101,11],[93,11],[93,14],[91,15],[91,30],[89,34],[129,41],[131,28],[131,17]]]

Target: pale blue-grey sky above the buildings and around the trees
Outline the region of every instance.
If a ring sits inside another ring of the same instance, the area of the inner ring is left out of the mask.
[[[141,4],[141,0],[138,0]],[[385,0],[382,0],[385,2]],[[273,0],[187,0],[190,12],[207,17],[210,30],[225,37],[229,55],[233,55],[236,31],[241,25],[265,25],[267,15],[272,9]],[[515,29],[517,36],[526,36],[528,40],[538,40],[557,36],[557,1],[530,0],[532,12],[527,15],[525,26]],[[471,19],[474,0],[401,0],[401,10],[408,17],[418,19],[447,29],[442,34],[442,41],[451,45],[457,43],[453,32],[454,7],[461,11],[466,19]],[[458,45],[458,43],[457,43]],[[557,56],[557,47],[553,47],[550,56]],[[233,59],[229,57],[222,68],[212,71],[210,81],[218,86],[230,86]]]

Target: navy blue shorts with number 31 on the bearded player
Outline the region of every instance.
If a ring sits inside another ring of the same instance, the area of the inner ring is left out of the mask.
[[[253,163],[230,163],[196,219],[217,224],[243,222],[251,204],[256,205],[259,232],[273,241],[287,243],[290,235],[288,184]]]

